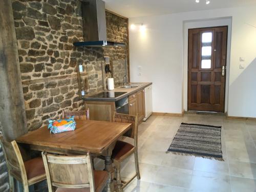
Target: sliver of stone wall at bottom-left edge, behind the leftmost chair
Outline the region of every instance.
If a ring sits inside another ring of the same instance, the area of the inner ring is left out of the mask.
[[[2,134],[2,125],[0,122],[0,135]],[[9,191],[9,178],[2,145],[0,144],[0,191]]]

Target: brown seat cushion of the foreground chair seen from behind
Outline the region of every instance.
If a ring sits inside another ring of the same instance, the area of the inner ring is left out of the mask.
[[[94,170],[95,191],[100,192],[105,187],[108,180],[108,172],[104,170]],[[90,188],[62,188],[58,187],[55,192],[90,192]]]

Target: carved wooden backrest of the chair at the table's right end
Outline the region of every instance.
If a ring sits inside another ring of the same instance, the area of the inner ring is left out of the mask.
[[[132,129],[127,131],[124,136],[134,139],[134,146],[137,147],[138,142],[138,114],[136,116],[114,113],[114,122],[132,123]]]

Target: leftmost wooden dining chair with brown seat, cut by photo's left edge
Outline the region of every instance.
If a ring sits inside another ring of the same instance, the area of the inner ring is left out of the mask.
[[[0,135],[0,141],[7,161],[10,175],[10,185],[13,189],[13,178],[23,184],[24,192],[29,192],[29,186],[46,180],[44,162],[41,157],[23,161],[16,141],[7,142]]]

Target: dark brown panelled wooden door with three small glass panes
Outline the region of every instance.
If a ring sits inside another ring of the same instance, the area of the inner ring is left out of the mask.
[[[188,111],[224,112],[227,26],[188,30]]]

